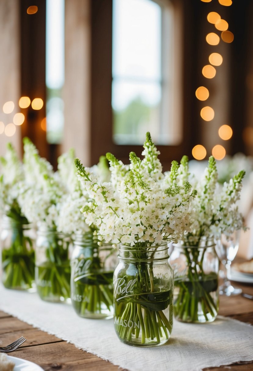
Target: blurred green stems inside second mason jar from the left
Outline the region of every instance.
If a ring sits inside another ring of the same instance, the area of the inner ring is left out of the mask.
[[[68,301],[70,299],[69,242],[63,241],[57,233],[47,235],[45,259],[41,263],[39,249],[36,254],[36,286],[41,299],[45,301]]]

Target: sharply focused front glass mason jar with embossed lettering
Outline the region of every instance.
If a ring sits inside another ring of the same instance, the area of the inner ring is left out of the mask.
[[[164,344],[173,325],[173,270],[167,243],[119,246],[114,272],[114,327],[129,345]]]

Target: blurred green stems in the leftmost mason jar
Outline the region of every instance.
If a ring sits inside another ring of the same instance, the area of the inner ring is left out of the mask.
[[[33,242],[26,229],[15,220],[10,222],[11,243],[2,249],[2,281],[8,289],[29,290],[34,286]]]

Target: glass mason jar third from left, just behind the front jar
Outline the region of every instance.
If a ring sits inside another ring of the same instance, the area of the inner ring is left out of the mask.
[[[118,263],[111,244],[98,245],[91,233],[76,234],[71,259],[71,302],[85,318],[113,317],[113,272]]]

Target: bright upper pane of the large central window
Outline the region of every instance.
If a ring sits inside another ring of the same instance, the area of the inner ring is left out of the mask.
[[[113,76],[161,79],[161,7],[151,0],[113,1]]]

